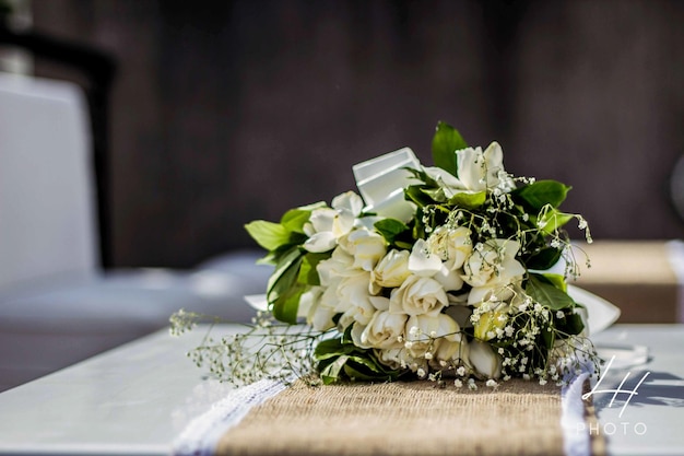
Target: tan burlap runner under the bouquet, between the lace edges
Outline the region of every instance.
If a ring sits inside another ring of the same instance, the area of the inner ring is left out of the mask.
[[[561,389],[534,382],[475,391],[431,382],[297,382],[251,409],[216,454],[562,455],[561,413]]]

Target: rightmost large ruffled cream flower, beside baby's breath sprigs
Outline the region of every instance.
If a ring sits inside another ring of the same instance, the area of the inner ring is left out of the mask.
[[[494,294],[499,301],[512,294],[508,285],[522,279],[526,270],[516,260],[520,244],[516,241],[490,239],[477,244],[463,264],[461,278],[472,285],[468,304],[479,304]]]

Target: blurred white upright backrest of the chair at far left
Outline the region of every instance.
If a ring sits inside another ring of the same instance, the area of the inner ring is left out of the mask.
[[[90,151],[78,85],[0,73],[0,291],[96,270]]]

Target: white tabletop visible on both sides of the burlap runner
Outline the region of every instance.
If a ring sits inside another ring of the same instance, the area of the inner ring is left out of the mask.
[[[203,335],[160,331],[0,394],[0,455],[168,454],[186,424],[231,389],[203,379],[185,356]],[[684,454],[684,325],[616,325],[594,340],[651,351],[647,364],[632,369],[633,377],[651,373],[623,417],[622,402],[609,408],[612,395],[595,395],[603,431],[612,431],[610,453]],[[601,388],[622,376],[615,371]]]

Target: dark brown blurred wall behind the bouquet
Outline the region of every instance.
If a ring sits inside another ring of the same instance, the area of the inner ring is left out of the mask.
[[[117,60],[114,266],[190,267],[354,188],[437,120],[573,185],[594,238],[683,237],[684,2],[34,0],[36,30]],[[49,63],[36,73],[55,75]]]

